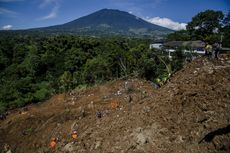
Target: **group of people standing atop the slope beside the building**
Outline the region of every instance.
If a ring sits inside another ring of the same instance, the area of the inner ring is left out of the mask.
[[[213,45],[210,45],[207,43],[205,47],[205,54],[212,59],[218,59],[219,53],[220,53],[221,45],[220,43],[214,43]]]

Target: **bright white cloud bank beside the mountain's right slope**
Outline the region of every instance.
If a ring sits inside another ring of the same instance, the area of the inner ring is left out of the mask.
[[[173,29],[173,30],[183,30],[186,29],[186,23],[179,23],[179,22],[175,22],[169,18],[160,18],[160,17],[154,17],[154,18],[147,18],[145,19],[146,21],[162,26],[162,27],[166,27],[169,29]]]

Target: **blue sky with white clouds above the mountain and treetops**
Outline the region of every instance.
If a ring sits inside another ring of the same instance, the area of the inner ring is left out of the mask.
[[[63,24],[103,8],[127,11],[177,30],[200,11],[227,13],[230,0],[0,0],[0,29]]]

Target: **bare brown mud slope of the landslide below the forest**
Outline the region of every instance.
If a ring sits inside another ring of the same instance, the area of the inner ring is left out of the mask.
[[[197,59],[158,90],[144,80],[118,80],[14,110],[0,121],[0,150],[230,152],[230,56]]]

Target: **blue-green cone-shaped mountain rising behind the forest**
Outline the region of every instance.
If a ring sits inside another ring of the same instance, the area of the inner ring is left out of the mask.
[[[46,28],[47,29],[47,28]],[[117,9],[104,8],[63,25],[48,27],[50,31],[66,31],[83,35],[165,35],[172,30],[151,24]]]

